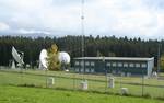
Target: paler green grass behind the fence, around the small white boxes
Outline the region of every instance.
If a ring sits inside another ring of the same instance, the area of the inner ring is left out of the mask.
[[[45,71],[40,70],[26,70],[24,73],[20,73],[17,70],[4,70],[0,71],[0,84],[34,84],[36,87],[46,88]],[[80,83],[83,79],[83,75],[68,73],[61,71],[48,71],[48,77],[55,78],[55,84],[52,88],[61,88],[68,90],[80,90]],[[120,88],[128,88],[129,93],[132,95],[142,95],[142,79],[137,77],[115,77],[115,88],[106,88],[106,77],[96,75],[84,75],[84,78],[89,81],[89,91],[96,92],[109,92],[120,93]],[[121,82],[121,83],[120,83]],[[143,93],[152,98],[164,98],[164,80],[144,79]]]

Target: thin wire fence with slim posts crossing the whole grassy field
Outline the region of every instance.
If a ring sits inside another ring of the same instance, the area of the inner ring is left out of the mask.
[[[113,83],[114,82],[114,83]],[[157,78],[81,75],[65,71],[8,69],[0,67],[0,84],[84,90],[164,99],[164,75]]]

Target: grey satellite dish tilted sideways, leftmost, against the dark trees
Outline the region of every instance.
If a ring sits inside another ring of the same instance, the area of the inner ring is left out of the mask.
[[[16,62],[19,62],[20,65],[23,65],[23,53],[21,52],[21,54],[17,53],[17,50],[12,47],[12,56],[15,59]]]

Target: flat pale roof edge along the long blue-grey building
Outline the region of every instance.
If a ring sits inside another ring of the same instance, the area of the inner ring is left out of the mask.
[[[139,58],[139,57],[78,57],[74,59],[87,59],[87,60],[133,60],[133,61],[149,61],[154,60],[154,57],[152,58]]]

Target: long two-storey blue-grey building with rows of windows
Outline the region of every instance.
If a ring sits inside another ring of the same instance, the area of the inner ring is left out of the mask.
[[[154,58],[80,57],[73,64],[75,72],[151,76]]]

